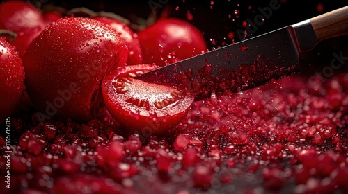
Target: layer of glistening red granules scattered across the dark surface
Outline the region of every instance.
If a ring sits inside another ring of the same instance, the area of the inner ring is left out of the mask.
[[[348,73],[329,80],[292,76],[238,94],[212,95],[194,103],[184,121],[162,136],[126,134],[107,117],[86,124],[40,125],[35,117],[17,122],[13,191],[165,193],[171,185],[180,194],[228,188],[347,193],[346,78]],[[342,100],[336,103],[333,96]],[[0,145],[3,155],[3,137]]]

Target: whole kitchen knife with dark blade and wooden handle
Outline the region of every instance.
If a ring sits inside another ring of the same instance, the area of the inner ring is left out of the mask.
[[[193,91],[196,100],[212,91],[228,94],[299,72],[299,54],[317,42],[348,34],[348,6],[292,26],[175,62],[140,76]]]

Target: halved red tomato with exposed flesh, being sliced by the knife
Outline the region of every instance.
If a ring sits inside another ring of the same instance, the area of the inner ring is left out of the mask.
[[[193,103],[192,94],[132,78],[156,68],[150,64],[121,67],[102,82],[106,108],[129,130],[145,134],[166,132],[182,121]]]

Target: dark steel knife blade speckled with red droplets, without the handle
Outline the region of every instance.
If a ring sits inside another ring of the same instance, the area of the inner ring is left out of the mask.
[[[193,91],[196,100],[208,98],[212,91],[219,95],[258,87],[299,72],[299,49],[291,30],[282,28],[136,78],[175,84]]]

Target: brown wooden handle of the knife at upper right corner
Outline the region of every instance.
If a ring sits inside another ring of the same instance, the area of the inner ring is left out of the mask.
[[[310,19],[317,40],[348,34],[348,6]]]

